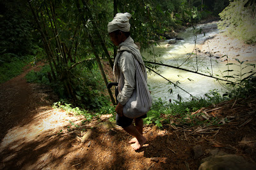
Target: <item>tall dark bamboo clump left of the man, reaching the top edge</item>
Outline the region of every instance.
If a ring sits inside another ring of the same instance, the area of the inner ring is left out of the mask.
[[[86,2],[84,1],[84,3]],[[55,82],[63,86],[66,96],[74,102],[89,105],[97,102],[100,106],[99,100],[93,99],[95,94],[93,94],[92,89],[96,87],[90,85],[92,80],[84,80],[83,72],[78,71],[81,69],[79,66],[81,64],[83,64],[84,69],[92,68],[96,58],[102,77],[105,83],[108,83],[102,70],[99,55],[95,53],[99,50],[95,42],[100,42],[105,53],[108,53],[108,50],[104,45],[104,39],[100,36],[100,31],[97,29],[97,23],[93,20],[93,14],[84,8],[78,9],[77,1],[28,1],[28,4],[44,42],[47,60],[51,66],[51,74],[49,75],[53,77]],[[83,6],[85,5],[87,4]],[[88,18],[86,22],[81,20],[84,15]],[[99,13],[94,13],[94,15],[99,15]],[[97,29],[97,31],[94,32],[93,29]],[[112,62],[110,56],[108,58],[109,62]],[[110,90],[109,96],[115,104]]]

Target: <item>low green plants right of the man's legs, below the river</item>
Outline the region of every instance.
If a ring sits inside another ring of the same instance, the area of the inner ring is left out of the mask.
[[[212,118],[212,120],[202,121],[198,118],[198,115],[191,113],[212,106],[213,104],[220,103],[227,98],[221,97],[216,90],[205,94],[204,98],[191,99],[190,101],[175,101],[175,103],[169,103],[162,99],[156,99],[152,105],[152,108],[147,113],[147,118],[144,119],[145,124],[156,124],[157,127],[163,127],[163,124],[176,124],[195,126],[195,125],[215,125],[220,121],[218,118]]]

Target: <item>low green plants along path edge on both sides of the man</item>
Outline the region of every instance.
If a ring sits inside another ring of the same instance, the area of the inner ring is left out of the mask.
[[[212,106],[213,104],[220,103],[227,98],[221,97],[216,90],[211,91],[205,95],[205,98],[191,99],[191,101],[168,103],[162,99],[154,100],[152,108],[147,113],[147,118],[143,119],[146,125],[156,125],[157,127],[163,127],[164,124],[179,124],[186,126],[195,125],[217,125],[220,123],[216,117],[212,117],[209,120],[200,120],[198,114],[191,114],[196,110],[200,110],[203,107]],[[100,115],[111,114],[109,121],[115,122],[115,106],[103,106],[99,111],[88,111],[82,108],[73,107],[72,104],[67,104],[65,101],[59,101],[54,103],[53,108],[61,108],[62,110],[75,113],[76,115],[83,115],[84,122],[90,122],[93,118],[99,118]]]

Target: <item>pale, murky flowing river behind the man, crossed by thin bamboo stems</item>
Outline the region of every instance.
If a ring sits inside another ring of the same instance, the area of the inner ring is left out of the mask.
[[[193,32],[195,32],[195,30],[199,32],[200,29],[206,33],[194,36]],[[211,38],[218,33],[217,22],[197,25],[196,29],[189,27],[185,31],[180,31],[178,33],[178,38],[183,39],[177,40],[177,43],[173,45],[168,45],[170,39],[161,41],[157,46],[152,45],[150,50],[155,53],[155,57],[148,52],[142,52],[142,55],[146,60],[156,60],[156,62],[162,62],[163,64],[168,64],[170,66],[179,66],[184,69],[198,71],[207,75],[212,73],[216,76],[218,74],[219,78],[222,78],[221,73],[227,70],[227,62],[223,62],[225,57],[221,58],[221,56],[214,56],[214,53],[212,53],[212,57],[209,57],[209,53],[193,50],[195,47],[195,40],[196,45],[200,45],[206,38]],[[193,54],[191,55],[191,53]],[[186,90],[186,92],[178,87],[168,84],[168,81],[164,80],[164,78],[152,73],[148,74],[148,85],[150,86],[150,91],[152,92],[154,99],[161,98],[164,101],[172,99],[172,101],[174,101],[178,99],[177,96],[179,94],[179,96],[186,101],[189,99],[190,95],[204,97],[204,94],[208,93],[210,90],[223,90],[223,87],[214,78],[165,66],[159,66],[157,71],[173,83],[179,81],[179,84],[177,85]],[[225,72],[225,74],[227,75],[227,72]],[[173,90],[172,94],[168,92],[169,89]]]

